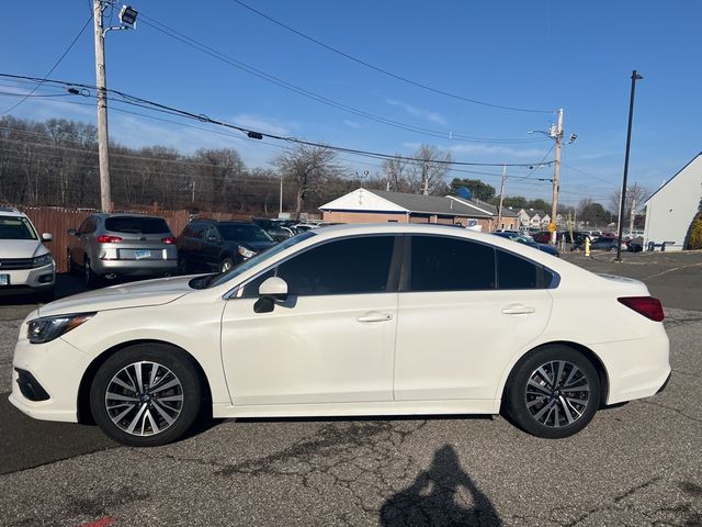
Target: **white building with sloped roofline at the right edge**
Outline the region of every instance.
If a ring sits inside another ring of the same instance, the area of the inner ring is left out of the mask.
[[[644,244],[682,250],[702,199],[702,153],[670,178],[646,202]]]

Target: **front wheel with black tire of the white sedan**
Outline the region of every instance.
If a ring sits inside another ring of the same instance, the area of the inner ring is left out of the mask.
[[[147,388],[144,381],[150,382],[155,366],[155,382]],[[141,371],[143,385],[127,390],[124,383],[134,386],[137,382],[136,368]],[[113,382],[115,379],[118,382]],[[107,393],[121,399],[107,399]],[[200,375],[184,351],[159,343],[137,344],[117,351],[100,367],[90,388],[90,410],[95,424],[115,441],[156,447],[178,440],[191,428],[202,406],[202,393]],[[134,404],[124,397],[133,399]]]

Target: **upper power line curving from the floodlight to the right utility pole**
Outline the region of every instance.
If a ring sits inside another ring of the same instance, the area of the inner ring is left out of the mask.
[[[440,138],[452,138],[455,141],[461,141],[461,142],[465,142],[465,143],[536,143],[536,142],[541,142],[543,139],[540,138],[495,138],[495,137],[474,137],[474,136],[468,136],[468,135],[464,135],[464,134],[454,134],[451,132],[443,132],[443,131],[437,131],[437,130],[432,130],[432,128],[427,128],[423,126],[417,126],[417,125],[412,125],[412,124],[407,124],[407,123],[403,123],[399,121],[395,121],[392,119],[387,119],[387,117],[383,117],[381,115],[376,115],[374,113],[370,113],[366,112],[364,110],[360,110],[358,108],[353,108],[353,106],[349,106],[348,104],[343,104],[341,102],[335,101],[332,99],[329,99],[327,97],[320,96],[318,93],[315,93],[313,91],[309,91],[307,89],[301,88],[296,85],[293,85],[291,82],[287,82],[285,80],[280,79],[279,77],[275,77],[271,74],[268,74],[263,70],[260,70],[258,68],[254,68],[253,66],[250,66],[248,64],[245,64],[240,60],[237,60],[222,52],[218,52],[217,49],[214,49],[213,47],[207,46],[206,44],[203,44],[181,32],[179,32],[178,30],[174,30],[172,27],[167,26],[166,24],[158,22],[157,20],[154,20],[143,13],[139,13],[141,15],[143,19],[146,19],[147,21],[144,22],[144,24],[148,25],[149,27],[155,29],[156,31],[159,31],[168,36],[170,36],[171,38],[174,38],[194,49],[197,49],[202,53],[205,53],[206,55],[210,55],[211,57],[216,58],[217,60],[220,60],[229,66],[233,66],[237,69],[240,69],[242,71],[248,72],[249,75],[252,75],[254,77],[258,77],[260,79],[263,79],[268,82],[272,82],[276,86],[280,86],[281,88],[284,88],[288,91],[292,91],[294,93],[297,93],[299,96],[306,97],[308,99],[312,99],[316,102],[319,102],[321,104],[326,104],[328,106],[332,106],[336,108],[338,110],[351,113],[353,115],[360,116],[360,117],[364,117],[371,121],[375,121],[377,123],[381,124],[385,124],[387,126],[393,126],[396,128],[401,128],[401,130],[406,130],[408,132],[415,132],[417,134],[422,134],[422,135],[427,135],[427,136],[431,136],[431,137],[440,137]],[[151,23],[149,23],[148,21],[151,21]]]

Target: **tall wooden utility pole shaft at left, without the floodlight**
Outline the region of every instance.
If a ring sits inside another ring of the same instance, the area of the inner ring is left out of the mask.
[[[102,1],[93,0],[95,26],[95,77],[98,87],[98,157],[100,159],[100,208],[110,212],[110,158],[107,156],[107,93],[105,90],[105,37],[102,25]]]

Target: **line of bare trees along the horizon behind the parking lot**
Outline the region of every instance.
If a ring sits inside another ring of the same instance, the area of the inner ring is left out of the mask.
[[[201,148],[182,154],[174,148],[132,148],[110,144],[110,179],[115,210],[135,206],[240,212],[294,217],[363,184],[370,189],[445,195],[467,187],[475,199],[497,204],[495,188],[480,180],[453,179],[451,153],[432,145],[410,156],[385,159],[380,171],[358,171],[336,150],[297,144],[271,159],[272,168],[247,167],[234,148]],[[76,209],[100,206],[98,132],[92,124],[65,119],[44,122],[0,117],[0,203]],[[615,200],[618,198],[614,198]],[[582,203],[581,215],[604,217],[602,205]],[[586,206],[587,205],[587,206]],[[551,212],[544,200],[505,197],[503,206]],[[591,211],[590,211],[591,210]],[[590,212],[588,212],[590,211]]]

